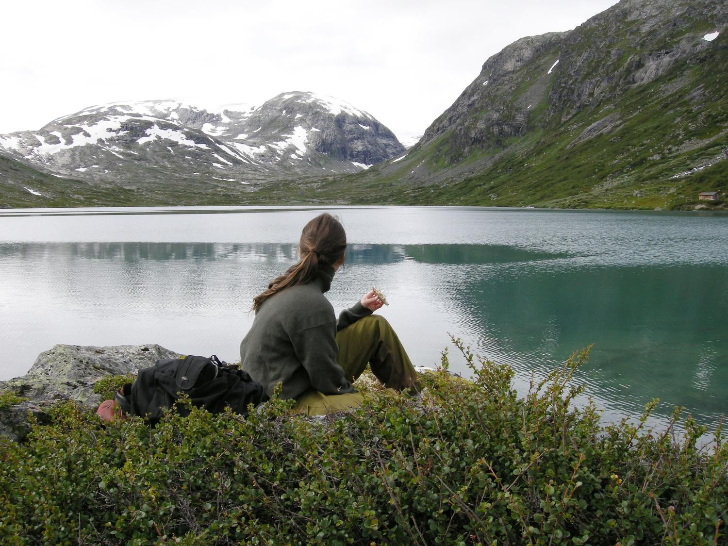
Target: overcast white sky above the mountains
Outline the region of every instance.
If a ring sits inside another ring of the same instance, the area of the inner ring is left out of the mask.
[[[86,106],[312,91],[422,132],[507,44],[566,31],[615,0],[6,2],[0,133]]]

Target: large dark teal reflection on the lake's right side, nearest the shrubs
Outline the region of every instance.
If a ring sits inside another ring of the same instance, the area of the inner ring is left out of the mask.
[[[710,414],[728,411],[727,286],[720,266],[557,265],[504,268],[457,295],[496,344],[485,347],[494,360],[526,371],[594,344],[585,381],[606,398],[660,397]]]

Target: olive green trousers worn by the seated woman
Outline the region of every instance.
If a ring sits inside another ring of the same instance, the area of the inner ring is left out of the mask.
[[[419,390],[417,372],[392,326],[381,315],[372,314],[340,330],[336,344],[339,345],[336,362],[349,381],[355,381],[370,365],[376,379],[387,389]],[[324,395],[311,389],[298,397],[295,408],[306,415],[325,415],[356,408],[363,400],[360,392]]]

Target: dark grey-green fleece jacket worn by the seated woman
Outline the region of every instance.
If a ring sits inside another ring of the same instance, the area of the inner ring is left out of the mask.
[[[336,332],[371,311],[357,302],[337,321],[324,296],[333,274],[333,267],[323,267],[314,281],[286,288],[258,308],[240,344],[240,365],[267,396],[279,381],[284,398],[297,398],[312,388],[325,395],[355,392],[336,363]]]

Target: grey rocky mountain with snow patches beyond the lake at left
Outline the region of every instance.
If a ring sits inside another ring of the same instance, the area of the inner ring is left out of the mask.
[[[323,95],[282,93],[258,107],[198,105],[92,106],[39,131],[0,135],[0,152],[55,175],[124,186],[353,173],[404,151],[371,114]]]

